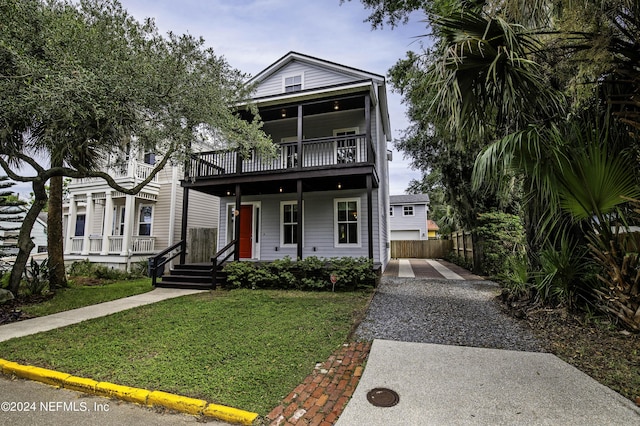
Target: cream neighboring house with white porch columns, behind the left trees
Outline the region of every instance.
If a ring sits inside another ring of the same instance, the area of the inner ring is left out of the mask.
[[[155,155],[130,152],[105,169],[123,187],[149,176]],[[72,179],[64,203],[64,247],[67,263],[88,259],[127,269],[180,241],[182,236],[182,167],[167,165],[137,195],[109,187],[103,179]],[[219,199],[194,193],[186,218],[191,228],[217,228]],[[188,232],[188,229],[187,229]],[[215,241],[212,241],[215,245]]]

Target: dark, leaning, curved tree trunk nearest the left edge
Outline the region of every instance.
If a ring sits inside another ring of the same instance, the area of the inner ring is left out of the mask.
[[[44,182],[33,182],[33,193],[34,202],[22,221],[22,227],[18,235],[18,255],[16,256],[16,261],[13,264],[11,276],[9,277],[9,290],[14,295],[18,294],[20,280],[27,267],[31,250],[35,247],[35,244],[31,241],[31,230],[36,220],[38,220],[38,214],[40,214],[42,209],[47,205],[47,191],[45,190]]]

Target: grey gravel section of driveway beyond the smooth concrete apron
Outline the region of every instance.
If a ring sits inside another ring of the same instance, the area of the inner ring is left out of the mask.
[[[383,277],[356,337],[543,352],[499,292],[491,281]]]

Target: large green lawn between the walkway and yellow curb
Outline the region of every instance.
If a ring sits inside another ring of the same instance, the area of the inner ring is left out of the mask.
[[[0,343],[0,357],[266,415],[347,340],[370,292],[214,291]]]

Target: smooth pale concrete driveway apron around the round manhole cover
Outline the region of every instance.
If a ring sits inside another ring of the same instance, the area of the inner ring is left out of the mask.
[[[387,388],[393,407],[367,393]],[[554,355],[374,340],[337,426],[638,425],[640,409]]]

